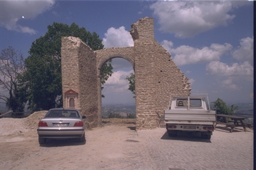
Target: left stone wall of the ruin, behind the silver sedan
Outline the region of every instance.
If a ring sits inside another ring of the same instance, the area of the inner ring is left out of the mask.
[[[77,109],[86,116],[85,126],[97,127],[98,97],[97,97],[97,68],[93,50],[75,37],[62,37],[61,73],[63,89],[63,108],[65,92],[78,92]]]

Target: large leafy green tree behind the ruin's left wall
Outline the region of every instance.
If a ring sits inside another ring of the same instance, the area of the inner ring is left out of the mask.
[[[97,33],[90,33],[75,23],[70,26],[53,23],[47,29],[45,35],[32,43],[25,60],[27,70],[23,74],[23,82],[29,86],[29,108],[33,111],[62,107],[61,37],[79,37],[93,50],[104,47]],[[103,66],[103,70],[107,70],[103,78],[111,76],[110,66],[111,61]]]

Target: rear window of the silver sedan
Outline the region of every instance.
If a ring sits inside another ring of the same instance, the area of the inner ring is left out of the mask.
[[[50,110],[45,118],[79,118],[79,114],[76,110]]]

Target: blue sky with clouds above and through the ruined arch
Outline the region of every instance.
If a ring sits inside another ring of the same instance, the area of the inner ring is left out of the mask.
[[[131,24],[154,18],[155,39],[210,102],[253,102],[253,1],[0,1],[0,50],[25,57],[53,22],[96,32],[105,48],[133,46]],[[135,104],[127,60],[113,59],[103,104]],[[3,92],[3,90],[1,90]]]

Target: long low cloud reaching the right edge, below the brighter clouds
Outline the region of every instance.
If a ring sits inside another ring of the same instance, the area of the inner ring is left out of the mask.
[[[233,63],[231,66],[220,61],[212,61],[207,64],[206,70],[215,76],[253,76],[253,66],[247,61],[243,64]]]

